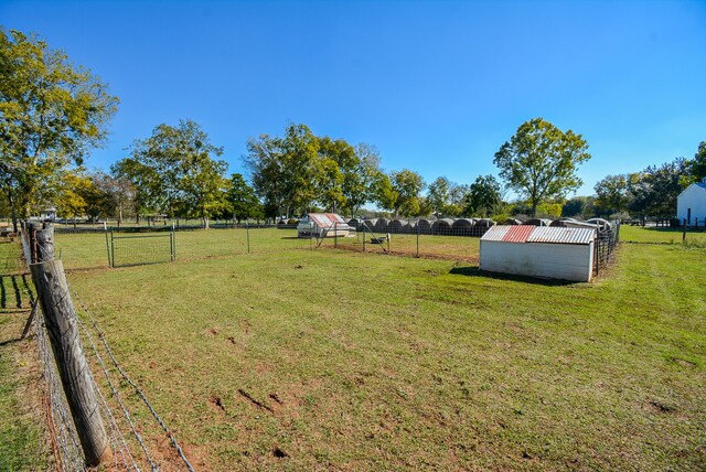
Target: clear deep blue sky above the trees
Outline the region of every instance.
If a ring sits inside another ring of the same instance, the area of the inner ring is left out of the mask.
[[[239,172],[248,137],[293,121],[377,146],[386,170],[470,183],[543,117],[590,144],[591,194],[706,140],[704,1],[0,1],[0,24],[120,98],[95,168],[191,118]]]

